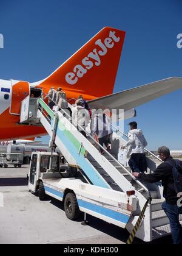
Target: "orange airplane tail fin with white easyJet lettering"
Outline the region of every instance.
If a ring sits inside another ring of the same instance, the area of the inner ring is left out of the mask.
[[[126,32],[104,27],[38,87],[61,87],[67,98],[87,100],[113,93]]]

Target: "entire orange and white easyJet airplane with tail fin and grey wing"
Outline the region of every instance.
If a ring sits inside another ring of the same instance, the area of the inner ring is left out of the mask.
[[[182,88],[181,77],[170,77],[113,94],[125,35],[124,31],[104,27],[49,77],[38,82],[0,80],[0,141],[47,134],[44,127],[20,125],[19,115],[21,102],[27,96],[47,94],[51,87],[61,87],[68,100],[83,95],[91,108],[124,109],[127,118],[135,116],[133,108]]]

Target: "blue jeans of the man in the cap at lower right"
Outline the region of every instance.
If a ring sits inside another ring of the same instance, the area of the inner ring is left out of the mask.
[[[182,227],[179,221],[179,215],[182,214],[182,207],[164,202],[163,210],[170,221],[170,229],[174,244],[182,244]]]

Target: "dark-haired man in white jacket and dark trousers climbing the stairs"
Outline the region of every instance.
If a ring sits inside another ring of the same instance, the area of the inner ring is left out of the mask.
[[[137,129],[137,123],[129,123],[130,131],[128,133],[129,141],[125,147],[130,146],[130,160],[129,166],[133,172],[147,171],[146,156],[144,154],[144,148],[147,146],[147,141],[143,135],[142,130]]]

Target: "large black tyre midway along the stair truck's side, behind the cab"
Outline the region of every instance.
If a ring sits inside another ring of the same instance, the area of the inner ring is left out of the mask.
[[[64,211],[68,219],[71,219],[72,221],[78,219],[80,211],[75,194],[68,193],[66,195],[64,200]]]

